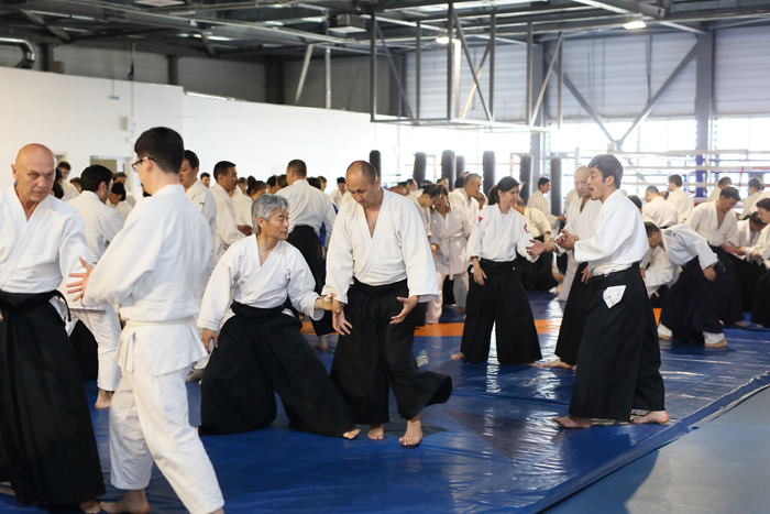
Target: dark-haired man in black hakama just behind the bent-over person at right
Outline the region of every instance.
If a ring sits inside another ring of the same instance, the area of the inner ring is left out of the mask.
[[[722,183],[722,181],[719,181]],[[740,201],[738,189],[726,186],[719,189],[716,201],[704,201],[695,207],[686,223],[707,241],[712,251],[719,258],[726,272],[716,277],[719,291],[719,319],[725,325],[745,327],[744,309],[740,300],[740,285],[730,266],[729,255],[722,248],[728,244],[738,228],[738,219],[733,207]]]

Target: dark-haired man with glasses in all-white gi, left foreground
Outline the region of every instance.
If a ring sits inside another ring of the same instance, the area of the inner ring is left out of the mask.
[[[118,349],[123,371],[110,407],[112,484],[125,490],[108,513],[148,512],[144,489],[153,460],[193,514],[222,513],[222,493],[189,425],[185,378],[206,354],[198,338],[198,283],[211,255],[210,229],[185,196],[182,136],[144,132],[133,168],[152,196],[136,204],[105,255],[70,292],[89,305],[118,304],[127,320]],[[119,273],[116,273],[119,270]]]

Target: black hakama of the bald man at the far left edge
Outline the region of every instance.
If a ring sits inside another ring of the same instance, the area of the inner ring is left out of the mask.
[[[0,456],[22,503],[72,505],[105,494],[82,378],[57,292],[0,291]]]

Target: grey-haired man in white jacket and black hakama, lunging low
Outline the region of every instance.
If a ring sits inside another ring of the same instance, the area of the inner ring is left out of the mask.
[[[349,439],[359,433],[326,368],[299,333],[301,324],[284,306],[288,297],[312,319],[324,313],[302,254],[286,241],[288,207],[277,195],[257,198],[252,207],[256,234],[230,247],[209,281],[198,327],[204,343],[213,341],[216,348],[200,390],[201,435],[268,426],[275,420],[276,393],[294,427]],[[220,331],[231,289],[234,316]],[[331,309],[331,303],[327,306]]]

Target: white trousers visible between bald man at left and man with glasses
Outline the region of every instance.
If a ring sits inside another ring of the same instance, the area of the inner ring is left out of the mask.
[[[111,305],[103,310],[70,309],[72,321],[67,322],[67,336],[73,333],[78,319],[82,321],[97,341],[99,374],[97,385],[103,391],[114,391],[120,382],[120,367],[114,361],[120,341],[120,318]]]

